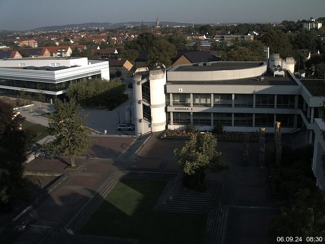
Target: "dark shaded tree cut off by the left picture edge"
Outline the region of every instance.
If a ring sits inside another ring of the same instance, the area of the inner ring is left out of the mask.
[[[0,100],[0,209],[23,198],[23,164],[30,146],[29,136],[19,130],[23,119],[9,104]]]

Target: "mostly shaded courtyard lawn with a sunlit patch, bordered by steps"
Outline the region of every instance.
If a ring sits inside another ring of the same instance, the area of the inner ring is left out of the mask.
[[[82,233],[139,239],[139,244],[202,243],[207,214],[153,211],[166,183],[121,179]]]

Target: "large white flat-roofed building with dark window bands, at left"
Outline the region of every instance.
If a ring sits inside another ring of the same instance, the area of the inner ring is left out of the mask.
[[[3,93],[15,94],[24,90],[56,98],[67,93],[70,84],[91,81],[92,78],[109,80],[109,63],[86,57],[0,60],[0,90]]]

